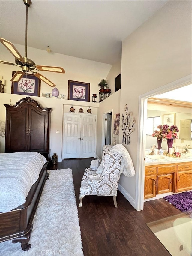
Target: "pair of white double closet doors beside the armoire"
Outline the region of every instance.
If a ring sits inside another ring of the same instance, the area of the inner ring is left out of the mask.
[[[65,114],[64,158],[95,156],[96,116]]]

